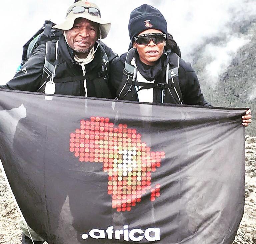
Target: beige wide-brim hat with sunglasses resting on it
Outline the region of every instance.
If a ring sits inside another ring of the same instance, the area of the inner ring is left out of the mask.
[[[55,25],[53,28],[58,30],[68,31],[73,28],[74,22],[77,18],[84,18],[84,19],[98,23],[101,31],[101,39],[106,38],[109,33],[111,23],[102,20],[100,16],[90,15],[87,9],[83,13],[75,14],[72,11],[73,7],[75,6],[82,6],[86,8],[96,8],[99,10],[99,7],[94,3],[88,2],[86,0],[78,1],[68,8],[66,13],[66,20],[61,24]]]

